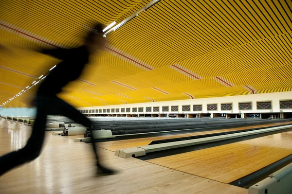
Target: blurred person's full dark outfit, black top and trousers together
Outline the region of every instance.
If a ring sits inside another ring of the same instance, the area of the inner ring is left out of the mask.
[[[62,87],[79,77],[84,66],[88,63],[89,53],[86,48],[45,50],[42,53],[50,54],[63,59],[63,61],[52,70],[37,91],[35,99],[37,117],[27,144],[18,151],[0,157],[0,176],[10,169],[32,161],[39,156],[45,137],[47,115],[66,116],[91,130],[91,121],[87,117],[73,106],[56,97]],[[91,141],[98,164],[98,156],[92,137]]]

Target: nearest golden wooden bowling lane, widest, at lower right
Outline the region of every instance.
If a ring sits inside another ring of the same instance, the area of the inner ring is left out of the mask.
[[[231,183],[292,154],[292,131],[146,160],[196,176]]]

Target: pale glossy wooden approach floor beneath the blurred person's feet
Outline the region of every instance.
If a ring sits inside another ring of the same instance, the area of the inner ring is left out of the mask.
[[[31,127],[0,121],[0,155],[23,147]],[[39,158],[0,177],[0,194],[247,194],[246,189],[99,149],[118,175],[95,177],[91,146],[47,132]]]

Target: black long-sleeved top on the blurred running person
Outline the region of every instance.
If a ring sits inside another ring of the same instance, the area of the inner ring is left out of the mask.
[[[85,46],[73,49],[43,50],[41,53],[63,60],[40,84],[37,93],[42,95],[55,96],[64,86],[81,75],[89,61],[89,52]]]

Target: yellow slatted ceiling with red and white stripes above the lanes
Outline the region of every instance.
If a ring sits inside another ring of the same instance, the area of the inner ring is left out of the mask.
[[[5,0],[0,1],[0,20],[56,44],[76,46],[92,22],[120,23],[149,2]],[[0,53],[1,104],[32,83],[31,76],[40,76],[57,62],[52,57],[25,50],[39,43],[22,36],[0,29],[0,43],[12,45],[17,54]],[[123,53],[99,52],[92,56],[81,77],[91,84],[74,81],[61,98],[74,106],[104,106],[124,104],[122,101],[151,102],[145,97],[155,101],[189,99],[183,92],[196,98],[244,95],[249,93],[242,87],[245,85],[256,88],[258,93],[292,90],[291,0],[161,0],[108,34],[107,39],[130,59],[125,60]],[[136,66],[140,63],[137,60],[154,69],[145,71]],[[183,66],[188,72],[170,68],[173,64]],[[191,79],[186,76],[189,72],[202,79]],[[235,87],[226,87],[213,79],[217,76]],[[137,90],[112,83],[113,80]],[[6,106],[26,106],[36,89]]]

